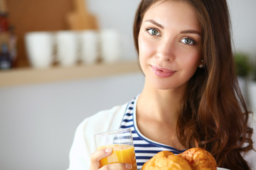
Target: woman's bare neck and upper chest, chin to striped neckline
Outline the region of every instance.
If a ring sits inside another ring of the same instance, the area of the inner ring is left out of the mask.
[[[176,126],[186,86],[159,90],[144,85],[137,101],[137,126],[145,137],[176,149],[185,149],[178,140]],[[151,127],[149,129],[149,127]],[[168,135],[166,135],[168,134]]]

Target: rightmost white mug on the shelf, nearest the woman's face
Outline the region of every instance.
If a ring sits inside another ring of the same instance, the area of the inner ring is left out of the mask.
[[[117,62],[121,55],[120,35],[116,30],[102,30],[100,52],[103,62]]]

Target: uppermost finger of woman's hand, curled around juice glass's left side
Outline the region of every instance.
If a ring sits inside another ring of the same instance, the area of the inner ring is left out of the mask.
[[[110,156],[112,148],[100,149],[91,154],[90,157],[90,170],[100,169],[100,159]]]

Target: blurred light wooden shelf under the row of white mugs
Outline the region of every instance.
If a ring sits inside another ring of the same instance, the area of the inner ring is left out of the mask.
[[[132,72],[140,72],[139,63],[136,61],[78,64],[73,67],[55,66],[47,69],[10,69],[0,71],[0,87],[106,77]]]

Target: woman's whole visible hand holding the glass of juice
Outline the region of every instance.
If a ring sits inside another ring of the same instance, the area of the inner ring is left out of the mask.
[[[94,152],[90,157],[90,170],[127,170],[132,169],[131,164],[114,163],[107,164],[100,168],[100,159],[110,156],[112,154],[112,148],[100,149]]]

